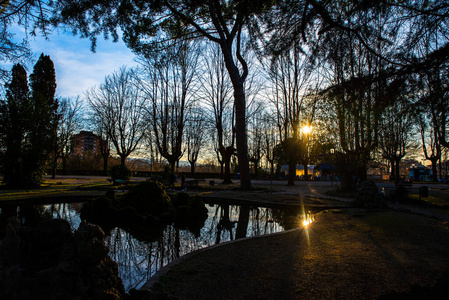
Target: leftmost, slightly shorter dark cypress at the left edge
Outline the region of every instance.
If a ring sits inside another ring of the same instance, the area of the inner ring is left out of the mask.
[[[12,68],[12,79],[6,87],[6,100],[0,104],[0,135],[6,148],[3,159],[3,182],[10,187],[19,187],[23,180],[23,156],[30,128],[30,99],[25,68],[16,64]]]

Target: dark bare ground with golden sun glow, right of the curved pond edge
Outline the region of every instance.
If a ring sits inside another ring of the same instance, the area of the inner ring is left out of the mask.
[[[173,299],[375,299],[449,272],[448,233],[417,215],[328,211],[307,230],[192,255],[153,290]]]

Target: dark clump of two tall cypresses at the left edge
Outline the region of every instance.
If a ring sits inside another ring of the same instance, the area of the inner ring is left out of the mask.
[[[2,136],[6,143],[4,182],[11,187],[36,187],[41,184],[46,163],[53,153],[59,115],[55,99],[56,77],[53,62],[41,54],[30,76],[31,93],[26,87],[26,72],[13,67],[7,85],[7,100],[2,105]],[[9,148],[9,150],[8,150]]]

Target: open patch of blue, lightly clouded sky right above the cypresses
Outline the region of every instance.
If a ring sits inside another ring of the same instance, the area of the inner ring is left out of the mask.
[[[19,34],[17,35],[19,36]],[[99,85],[105,76],[126,65],[137,65],[135,55],[122,40],[98,38],[96,52],[91,51],[88,39],[81,39],[62,32],[54,32],[48,40],[42,36],[29,37],[29,44],[35,57],[28,67],[32,73],[34,63],[41,53],[50,55],[56,70],[56,93],[58,97],[83,97],[84,91]]]

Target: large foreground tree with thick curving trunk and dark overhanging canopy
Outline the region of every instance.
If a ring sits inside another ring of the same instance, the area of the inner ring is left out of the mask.
[[[248,65],[242,56],[242,34],[249,23],[274,3],[259,1],[97,1],[79,6],[72,1],[56,3],[56,19],[94,42],[100,33],[118,38],[117,27],[134,51],[148,55],[161,48],[161,41],[207,39],[219,46],[232,82],[235,110],[236,145],[242,188],[251,187],[246,139],[246,98],[244,83]],[[91,3],[92,4],[92,3]],[[130,5],[131,4],[131,5]],[[120,7],[120,9],[118,8]],[[76,8],[76,9],[75,9]],[[91,16],[95,15],[95,18]],[[93,20],[95,19],[95,20]]]

